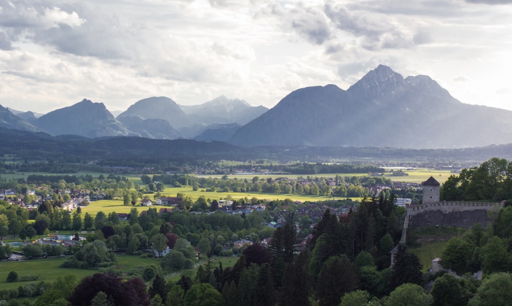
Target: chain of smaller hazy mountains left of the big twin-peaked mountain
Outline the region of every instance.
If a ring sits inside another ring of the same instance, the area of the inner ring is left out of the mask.
[[[167,97],[151,97],[137,101],[114,118],[103,103],[83,99],[44,115],[2,107],[0,127],[89,138],[136,136],[179,139],[201,136],[206,131],[207,136],[201,136],[201,139],[212,141],[229,139],[236,127],[266,111],[268,108],[264,106],[251,106],[243,100],[224,96],[194,106],[178,105]]]

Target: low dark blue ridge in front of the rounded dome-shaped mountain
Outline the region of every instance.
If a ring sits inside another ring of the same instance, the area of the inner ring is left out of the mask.
[[[176,129],[163,119],[142,119],[139,116],[121,116],[119,121],[129,130],[142,137],[152,139],[178,139],[180,135]]]

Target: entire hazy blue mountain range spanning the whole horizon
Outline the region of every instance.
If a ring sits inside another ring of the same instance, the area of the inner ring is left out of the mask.
[[[428,76],[403,78],[385,65],[347,90],[333,84],[298,89],[270,110],[224,96],[192,106],[151,97],[114,118],[102,103],[84,99],[45,115],[16,116],[0,107],[0,127],[242,146],[457,148],[512,143],[512,112],[464,104]]]

